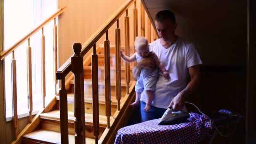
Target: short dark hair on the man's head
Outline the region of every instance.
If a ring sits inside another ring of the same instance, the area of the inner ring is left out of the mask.
[[[155,21],[164,21],[166,19],[171,20],[173,23],[176,23],[176,18],[175,18],[175,14],[172,11],[169,10],[163,10],[163,11],[159,11],[156,15],[155,15]]]

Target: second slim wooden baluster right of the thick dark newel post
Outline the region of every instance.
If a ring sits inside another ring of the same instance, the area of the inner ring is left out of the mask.
[[[111,88],[110,88],[110,53],[108,31],[104,41],[104,68],[105,68],[105,111],[107,116],[107,128],[110,128],[111,116]]]

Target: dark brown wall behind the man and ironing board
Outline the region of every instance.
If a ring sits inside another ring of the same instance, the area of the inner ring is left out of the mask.
[[[191,100],[202,111],[228,109],[245,116],[246,0],[143,0],[152,18],[164,9],[176,14],[176,34],[195,44],[203,61],[201,94]],[[245,121],[234,136],[215,143],[244,143]]]

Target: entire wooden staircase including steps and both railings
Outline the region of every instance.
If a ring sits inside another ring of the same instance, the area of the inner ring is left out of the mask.
[[[134,88],[136,84],[131,77],[133,64],[130,66],[125,64],[123,60],[120,60],[120,53],[115,53],[115,51],[119,52],[120,50],[126,50],[126,52],[128,52],[130,50],[131,54],[134,53],[134,48],[131,47],[130,42],[134,41],[139,33],[138,17],[141,18],[141,36],[145,36],[146,30],[149,42],[151,41],[151,35],[156,36],[155,33],[151,33],[150,23],[148,23],[147,29],[145,29],[145,13],[143,5],[141,4],[141,15],[138,16],[136,0],[127,0],[123,5],[117,8],[117,11],[109,16],[109,18],[96,29],[85,42],[83,42],[83,45],[81,45],[81,43],[74,43],[74,55],[58,68],[58,29],[56,25],[56,17],[63,13],[66,8],[67,6],[60,8],[11,48],[0,52],[0,61],[5,59],[6,56],[11,56],[11,53],[13,53],[11,69],[13,136],[10,136],[13,137],[12,144],[72,144],[74,142],[76,144],[81,144],[84,141],[84,137],[86,137],[87,144],[109,144],[115,141],[117,131],[128,123],[128,120],[130,120],[132,115],[133,108],[129,107],[129,105],[134,101]],[[132,29],[130,29],[131,22],[129,22],[128,9],[133,9],[133,16],[131,17],[131,19],[133,19]],[[124,19],[121,17],[123,15],[125,15]],[[45,35],[43,34],[43,28],[53,20],[53,73],[56,77],[54,82],[45,83],[45,40],[47,38],[45,38]],[[119,21],[123,20],[125,23],[124,27],[119,27]],[[111,27],[116,27],[115,40],[108,36]],[[125,44],[125,48],[121,47],[121,29],[124,30],[125,34],[125,40],[122,40],[122,43]],[[39,30],[42,31],[40,38],[42,44],[41,79],[43,83],[41,86],[43,107],[35,116],[33,116],[32,112],[35,110],[33,109],[33,85],[35,85],[35,83],[32,83],[32,61],[34,61],[34,59],[31,59],[31,50],[33,48],[30,47],[30,38]],[[133,31],[134,34],[133,39],[130,37],[131,31]],[[104,46],[99,45],[98,48],[96,48],[96,45],[101,43],[99,42],[101,37],[105,37]],[[109,41],[109,39],[111,39],[111,41]],[[17,85],[16,83],[17,72],[14,53],[16,48],[25,42],[27,42],[28,52],[26,62],[28,69],[27,87],[29,117],[27,125],[25,125],[24,128],[21,128],[24,125],[21,127],[19,126],[17,86],[23,88],[24,85]],[[110,46],[110,43],[115,45]],[[118,58],[115,58],[115,55]],[[126,53],[126,55],[128,55],[128,53]],[[103,67],[104,61],[107,62],[105,67]],[[117,66],[115,66],[116,63],[118,64]],[[73,72],[73,74],[70,76],[69,74],[71,72]],[[127,80],[125,80],[125,77],[127,77]],[[57,95],[46,97],[46,85],[51,85],[53,83],[55,88],[57,85],[61,85],[61,88],[56,90]],[[85,134],[83,131],[85,131]]]

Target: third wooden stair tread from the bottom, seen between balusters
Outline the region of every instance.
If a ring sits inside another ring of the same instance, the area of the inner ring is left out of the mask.
[[[56,100],[59,101],[59,96],[56,96]],[[75,101],[74,93],[68,93],[67,94],[67,101],[74,103],[74,101]],[[92,103],[92,101],[93,101],[92,95],[86,93],[85,94],[85,102]],[[99,104],[105,104],[105,96],[104,95],[99,95]],[[111,104],[117,105],[117,99],[116,99],[115,96],[111,96]]]

